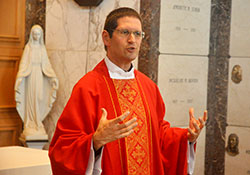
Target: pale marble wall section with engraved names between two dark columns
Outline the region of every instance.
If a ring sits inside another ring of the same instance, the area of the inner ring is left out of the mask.
[[[206,110],[210,7],[207,0],[161,1],[158,85],[172,126],[188,127],[190,107],[196,117]],[[194,174],[204,172],[204,162],[205,129]]]

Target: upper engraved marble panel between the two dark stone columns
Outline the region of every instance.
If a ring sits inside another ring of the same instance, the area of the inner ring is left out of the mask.
[[[161,1],[161,53],[208,55],[211,1]]]

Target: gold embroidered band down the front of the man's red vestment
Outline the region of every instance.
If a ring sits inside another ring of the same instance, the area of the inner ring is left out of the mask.
[[[130,111],[137,118],[134,133],[125,138],[128,175],[150,174],[150,138],[146,111],[136,79],[113,80],[121,113]],[[126,122],[124,121],[124,122]]]

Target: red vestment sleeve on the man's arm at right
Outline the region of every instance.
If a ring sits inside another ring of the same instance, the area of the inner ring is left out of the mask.
[[[160,93],[157,96],[160,127],[161,156],[166,175],[187,174],[187,129],[170,127],[163,120],[165,105]]]

